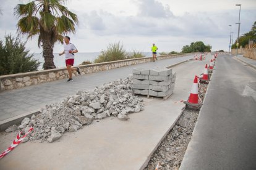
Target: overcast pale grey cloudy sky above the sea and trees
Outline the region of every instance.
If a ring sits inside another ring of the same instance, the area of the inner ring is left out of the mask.
[[[0,39],[17,34],[13,9],[26,2],[0,0]],[[70,0],[64,6],[79,18],[76,33],[68,35],[79,52],[100,52],[119,41],[126,51],[150,52],[155,42],[158,52],[181,52],[183,46],[195,41],[210,44],[212,51],[229,51],[228,25],[232,25],[234,41],[237,39],[236,4],[241,4],[242,35],[256,21],[256,0]],[[27,48],[42,51],[37,37],[28,40]],[[56,43],[54,52],[61,51],[62,45]]]

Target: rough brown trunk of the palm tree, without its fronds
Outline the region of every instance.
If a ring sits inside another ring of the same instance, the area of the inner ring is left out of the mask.
[[[43,40],[43,57],[45,58],[45,63],[43,64],[44,70],[49,70],[56,68],[53,62],[53,43],[51,41],[44,39]]]

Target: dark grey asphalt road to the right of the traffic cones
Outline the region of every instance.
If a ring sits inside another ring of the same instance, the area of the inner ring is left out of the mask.
[[[256,169],[256,70],[219,55],[180,169]]]

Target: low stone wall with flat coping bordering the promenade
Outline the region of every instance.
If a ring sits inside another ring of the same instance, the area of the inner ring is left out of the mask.
[[[158,56],[158,60],[171,59],[175,57],[182,57],[189,54],[174,54]],[[89,65],[80,65],[81,75],[96,73],[98,71],[110,70],[113,68],[125,67],[128,65],[135,65],[139,63],[151,62],[151,57],[143,57],[140,59],[119,60],[114,62],[96,63]],[[19,73],[13,75],[0,76],[0,91],[19,89],[25,86],[32,86],[34,84],[46,83],[58,79],[68,78],[66,68],[55,68],[51,70],[33,71],[28,73]],[[73,76],[78,73],[74,72]]]

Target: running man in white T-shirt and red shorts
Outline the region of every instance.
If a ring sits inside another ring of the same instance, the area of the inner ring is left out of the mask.
[[[72,79],[72,71],[77,71],[80,75],[79,67],[73,68],[72,66],[74,65],[74,60],[75,60],[75,54],[77,53],[77,48],[74,46],[74,44],[70,43],[70,38],[69,36],[64,37],[64,51],[61,52],[59,55],[65,54],[66,57],[66,66],[67,66],[67,71],[69,72],[69,79],[67,82],[73,81]]]

